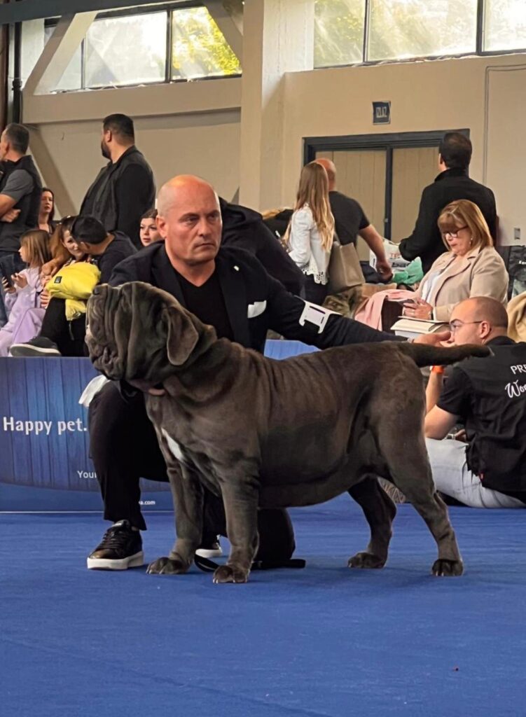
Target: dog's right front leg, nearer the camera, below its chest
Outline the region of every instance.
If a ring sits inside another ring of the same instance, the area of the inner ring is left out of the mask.
[[[244,583],[258,550],[259,483],[245,476],[230,476],[221,483],[221,493],[232,549],[227,564],[215,571],[214,582]]]

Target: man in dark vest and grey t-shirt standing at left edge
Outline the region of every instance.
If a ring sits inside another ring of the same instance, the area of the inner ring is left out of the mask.
[[[42,181],[32,156],[26,154],[29,132],[24,125],[7,125],[0,138],[0,273],[7,280],[24,267],[19,259],[20,237],[38,227]],[[0,326],[6,320],[0,290]]]

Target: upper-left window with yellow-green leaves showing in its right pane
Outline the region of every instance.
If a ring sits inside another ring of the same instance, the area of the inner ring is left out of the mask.
[[[47,20],[44,42],[57,20]],[[28,35],[29,42],[29,35]],[[100,14],[57,82],[57,92],[240,75],[241,67],[202,5]]]

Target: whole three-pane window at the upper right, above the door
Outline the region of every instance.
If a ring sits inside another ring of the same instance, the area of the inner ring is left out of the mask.
[[[314,67],[526,49],[526,0],[315,0],[314,22]]]

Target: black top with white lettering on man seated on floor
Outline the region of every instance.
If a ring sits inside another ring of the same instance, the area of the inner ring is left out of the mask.
[[[437,406],[464,422],[467,464],[484,487],[526,502],[526,343],[488,346],[493,356],[455,367]]]

